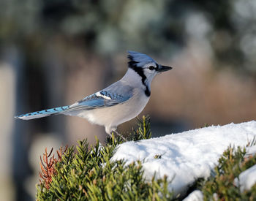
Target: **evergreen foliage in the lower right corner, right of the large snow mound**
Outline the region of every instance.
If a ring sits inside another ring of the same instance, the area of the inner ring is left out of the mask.
[[[256,184],[249,190],[240,191],[240,186],[234,181],[241,172],[255,164],[256,155],[246,155],[245,148],[227,148],[211,177],[200,183],[204,200],[255,200]]]

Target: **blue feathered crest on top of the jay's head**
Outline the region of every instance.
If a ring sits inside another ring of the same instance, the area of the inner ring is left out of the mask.
[[[129,55],[129,65],[135,65],[137,67],[143,67],[144,65],[148,64],[148,63],[157,63],[156,61],[154,61],[153,58],[151,58],[150,56],[147,56],[146,54],[143,53],[138,53],[135,51],[128,51]]]

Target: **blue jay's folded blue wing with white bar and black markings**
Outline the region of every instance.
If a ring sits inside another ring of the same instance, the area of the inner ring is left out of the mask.
[[[86,96],[75,104],[70,105],[70,107],[64,111],[64,113],[69,113],[75,110],[92,110],[102,107],[110,107],[113,105],[121,104],[130,99],[132,93],[127,93],[125,95],[120,95],[116,93],[111,93],[110,91],[99,91],[90,96]]]

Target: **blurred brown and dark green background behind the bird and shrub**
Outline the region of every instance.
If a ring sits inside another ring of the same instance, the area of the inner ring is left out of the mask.
[[[13,116],[105,88],[127,71],[127,50],[173,67],[155,78],[141,113],[154,136],[255,120],[254,0],[1,0],[1,200],[34,200],[45,147],[106,137],[82,118]]]

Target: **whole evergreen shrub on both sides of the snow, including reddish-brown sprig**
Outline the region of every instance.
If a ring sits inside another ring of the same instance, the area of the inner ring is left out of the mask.
[[[138,119],[138,129],[133,129],[127,140],[150,137],[149,117],[143,116],[142,121]],[[106,145],[97,140],[89,147],[87,140],[78,141],[76,148],[60,148],[56,159],[51,156],[52,151],[45,150],[37,200],[176,200],[167,189],[170,184],[167,176],[146,181],[142,162],[125,165],[124,160],[111,160],[115,148],[123,142],[114,134]],[[256,138],[248,146],[255,144]],[[161,155],[154,157],[160,159]],[[241,172],[255,164],[256,155],[246,155],[245,148],[230,146],[219,158],[211,177],[199,178],[187,194],[199,189],[203,191],[204,200],[255,200],[256,184],[252,189],[240,191],[234,182]]]

